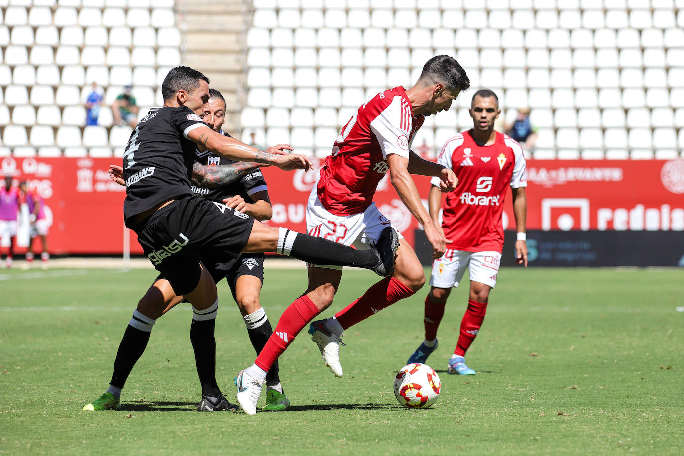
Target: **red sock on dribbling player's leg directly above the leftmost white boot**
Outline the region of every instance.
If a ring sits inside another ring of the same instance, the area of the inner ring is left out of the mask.
[[[278,357],[282,355],[282,352],[289,347],[295,336],[306,326],[306,323],[313,320],[313,317],[319,313],[320,310],[306,295],[295,299],[280,315],[276,329],[268,338],[254,364],[268,372]]]

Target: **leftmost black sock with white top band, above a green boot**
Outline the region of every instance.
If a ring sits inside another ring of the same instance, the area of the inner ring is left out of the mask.
[[[111,373],[111,381],[109,381],[111,386],[120,389],[124,387],[133,366],[147,347],[155,321],[137,310],[133,312],[133,318],[131,318],[126,332],[124,332],[119,344],[119,351],[116,353],[114,372]]]

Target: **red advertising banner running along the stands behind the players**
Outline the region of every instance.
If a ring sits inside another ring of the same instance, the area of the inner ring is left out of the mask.
[[[51,220],[52,254],[120,254],[123,251],[124,188],[109,179],[109,163],[119,159],[3,157],[3,176],[27,180],[44,198]],[[314,160],[320,167],[321,161]],[[273,204],[272,226],[306,230],[306,200],[317,169],[284,172],[263,168]],[[684,160],[529,160],[529,230],[684,230]],[[415,176],[427,205],[430,180]],[[378,208],[413,243],[419,228],[389,174],[380,182]],[[504,228],[514,229],[510,194],[504,203]],[[28,214],[20,220],[18,246],[28,241]],[[131,232],[131,253],[142,254]],[[22,250],[20,249],[20,252]]]

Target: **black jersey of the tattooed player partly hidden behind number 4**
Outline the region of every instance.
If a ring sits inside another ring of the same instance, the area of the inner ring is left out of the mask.
[[[227,137],[232,137],[221,131],[221,134]],[[195,161],[202,165],[230,165],[231,163],[236,163],[234,160],[226,159],[224,157],[217,157],[213,152],[206,151],[200,152],[196,150]],[[202,198],[207,198],[207,200],[221,202],[225,198],[230,198],[231,196],[239,195],[244,200],[250,204],[254,203],[252,200],[252,195],[257,193],[257,191],[267,190],[266,181],[261,174],[261,170],[256,169],[252,172],[245,174],[238,180],[228,185],[221,185],[220,187],[197,187],[192,185],[190,187],[192,191],[197,196],[202,196]]]

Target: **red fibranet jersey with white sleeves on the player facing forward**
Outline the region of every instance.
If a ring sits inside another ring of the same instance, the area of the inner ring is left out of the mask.
[[[503,200],[507,187],[527,187],[523,148],[497,133],[495,143],[478,146],[471,131],[449,139],[437,163],[451,168],[458,186],[447,193],[442,228],[448,249],[466,252],[501,252]],[[430,180],[439,185],[438,178]]]

